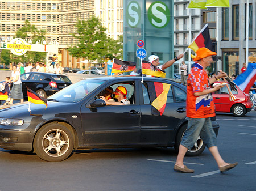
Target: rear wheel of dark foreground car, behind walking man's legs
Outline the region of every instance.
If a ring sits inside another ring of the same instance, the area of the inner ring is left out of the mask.
[[[180,142],[187,128],[188,128],[187,125],[181,126],[179,132],[176,135],[175,145],[174,145],[176,152],[179,152]],[[198,156],[204,151],[204,149],[205,149],[204,141],[199,136],[193,148],[187,151],[186,156]]]

